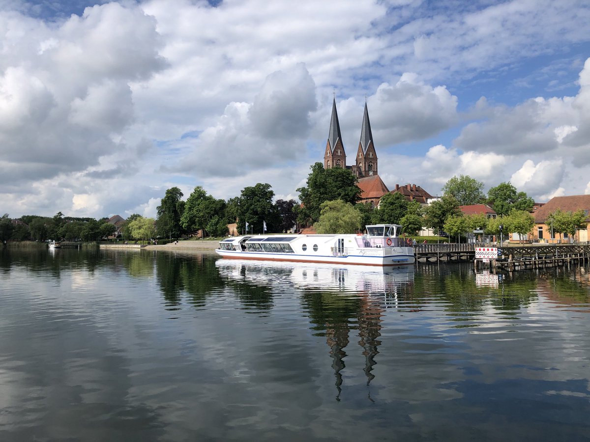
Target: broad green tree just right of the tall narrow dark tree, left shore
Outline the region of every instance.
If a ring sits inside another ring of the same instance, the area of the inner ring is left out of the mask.
[[[186,200],[181,225],[187,232],[196,233],[207,231],[207,226],[213,217],[224,217],[225,201],[217,200],[207,194],[201,186],[196,186]]]

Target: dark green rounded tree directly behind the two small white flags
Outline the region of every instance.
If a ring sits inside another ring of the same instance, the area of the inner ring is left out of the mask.
[[[278,224],[278,212],[273,198],[274,192],[270,184],[258,183],[244,187],[240,194],[238,232],[245,230],[245,223],[248,223],[248,232],[262,233],[263,222],[266,222],[267,231],[270,232],[270,227]]]

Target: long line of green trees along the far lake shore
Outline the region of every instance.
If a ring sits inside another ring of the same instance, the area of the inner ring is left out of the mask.
[[[178,187],[166,190],[156,209],[156,219],[137,213],[129,216],[122,228],[122,238],[169,240],[201,233],[203,236],[227,236],[228,225],[237,224],[237,232],[260,234],[288,232],[297,226],[314,226],[318,233],[363,232],[366,225],[388,223],[402,225],[410,236],[428,227],[435,233],[459,237],[473,230],[499,235],[501,232],[526,236],[535,222],[530,211],[534,200],[518,192],[513,184],[500,183],[483,193],[484,184],[461,175],[448,180],[442,187],[442,197],[427,207],[408,201],[401,193],[386,193],[375,206],[361,203],[358,180],[347,169],[324,169],[322,163],[310,167],[306,185],[297,189],[294,199],[275,202],[268,183],[244,187],[240,196],[228,200],[215,199],[201,186],[183,200]],[[483,214],[465,216],[460,206],[487,204],[497,217]],[[14,240],[99,240],[112,236],[116,227],[106,218],[65,217],[58,212],[53,217],[22,216],[15,223],[4,215],[0,219],[0,239]],[[585,227],[584,211],[549,215],[553,232],[574,235]]]

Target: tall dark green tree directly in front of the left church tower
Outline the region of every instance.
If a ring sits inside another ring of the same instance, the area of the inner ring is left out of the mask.
[[[307,176],[307,186],[299,187],[299,200],[302,207],[297,220],[300,223],[314,223],[319,220],[322,203],[342,200],[355,204],[360,200],[360,189],[356,177],[348,169],[332,167],[324,169],[322,163],[315,163]]]

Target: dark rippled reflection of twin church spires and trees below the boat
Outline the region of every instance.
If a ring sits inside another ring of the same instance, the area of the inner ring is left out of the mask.
[[[372,374],[376,364],[375,357],[379,354],[381,341],[381,316],[383,306],[381,301],[374,302],[370,295],[339,296],[335,293],[302,291],[301,302],[309,313],[314,336],[326,337],[330,347],[332,369],[335,374],[335,385],[338,391],[336,400],[340,400],[342,391],[342,370],[346,368],[344,359],[348,355],[345,351],[350,342],[350,331],[358,330],[358,344],[365,358],[363,371],[367,377],[367,385],[375,377]],[[349,351],[351,351],[349,349]]]

